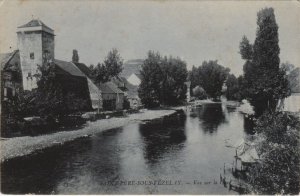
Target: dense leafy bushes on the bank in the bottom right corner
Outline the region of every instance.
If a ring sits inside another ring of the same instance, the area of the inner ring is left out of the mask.
[[[264,194],[298,194],[300,183],[299,118],[265,112],[256,123],[261,162],[250,171],[253,186]]]

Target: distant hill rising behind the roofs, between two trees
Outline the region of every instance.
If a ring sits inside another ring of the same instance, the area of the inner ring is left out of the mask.
[[[121,77],[128,79],[131,74],[135,73],[136,75],[140,75],[140,71],[142,70],[144,60],[143,59],[132,59],[128,60],[123,64],[123,70],[120,74]]]

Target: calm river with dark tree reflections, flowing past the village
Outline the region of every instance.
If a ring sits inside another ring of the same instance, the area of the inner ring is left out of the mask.
[[[237,194],[220,184],[248,124],[235,109],[205,104],[81,138],[1,166],[3,193]],[[155,184],[155,185],[154,185]]]

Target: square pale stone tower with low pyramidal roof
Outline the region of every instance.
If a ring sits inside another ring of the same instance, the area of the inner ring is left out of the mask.
[[[54,31],[40,20],[18,27],[23,89],[37,88],[38,65],[54,59]]]

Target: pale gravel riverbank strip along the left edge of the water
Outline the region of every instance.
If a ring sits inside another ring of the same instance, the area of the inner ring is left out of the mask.
[[[23,136],[1,140],[1,162],[20,156],[29,155],[44,148],[61,145],[65,142],[75,140],[80,137],[88,137],[90,135],[121,127],[134,122],[144,120],[153,120],[163,116],[175,113],[175,110],[144,110],[139,113],[130,114],[127,117],[114,117],[110,119],[102,119],[95,122],[87,122],[87,124],[78,130],[62,131],[52,134],[40,136]]]

